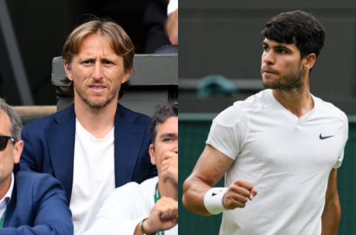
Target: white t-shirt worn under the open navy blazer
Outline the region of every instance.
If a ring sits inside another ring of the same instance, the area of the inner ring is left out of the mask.
[[[74,234],[81,235],[94,223],[103,201],[115,189],[114,128],[97,139],[75,124],[73,189],[69,208]]]

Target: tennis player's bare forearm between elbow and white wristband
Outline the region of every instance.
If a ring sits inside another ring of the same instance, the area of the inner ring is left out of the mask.
[[[190,176],[183,184],[183,205],[193,213],[210,215],[204,206],[204,196],[212,188],[198,177]]]

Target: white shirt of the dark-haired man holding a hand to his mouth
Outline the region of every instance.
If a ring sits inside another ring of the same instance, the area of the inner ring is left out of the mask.
[[[131,235],[142,219],[149,217],[155,205],[158,177],[141,184],[130,182],[118,187],[100,208],[94,225],[84,235]],[[164,235],[178,235],[178,225],[164,231]]]

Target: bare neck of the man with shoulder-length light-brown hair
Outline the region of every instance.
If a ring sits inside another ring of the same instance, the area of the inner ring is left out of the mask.
[[[83,102],[75,102],[75,116],[81,126],[95,138],[104,138],[115,123],[117,100],[112,100],[104,108],[91,108]]]

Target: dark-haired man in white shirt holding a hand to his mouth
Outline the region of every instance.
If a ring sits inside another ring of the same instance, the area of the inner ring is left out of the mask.
[[[178,234],[178,103],[160,106],[151,134],[149,153],[158,177],[116,188],[85,235]]]

